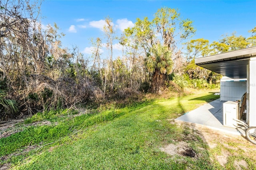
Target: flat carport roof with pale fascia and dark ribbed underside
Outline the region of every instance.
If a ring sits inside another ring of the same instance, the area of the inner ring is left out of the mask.
[[[256,56],[256,47],[196,58],[195,63],[233,79],[246,79],[247,65],[253,56]]]

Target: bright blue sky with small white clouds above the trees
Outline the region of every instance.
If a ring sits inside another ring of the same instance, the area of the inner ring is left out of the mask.
[[[161,7],[178,9],[182,18],[194,21],[197,31],[192,39],[204,38],[213,42],[234,31],[237,36],[247,38],[251,36],[248,30],[256,26],[256,0],[45,0],[41,6],[41,22],[44,25],[55,22],[60,32],[66,34],[61,39],[63,46],[78,46],[84,56],[90,56],[90,38],[104,38],[101,28],[106,17],[112,19],[118,36],[124,28],[133,26],[136,18],[147,16],[152,20]],[[114,57],[117,57],[120,46],[118,42],[114,43]],[[102,54],[107,55],[104,49]]]

